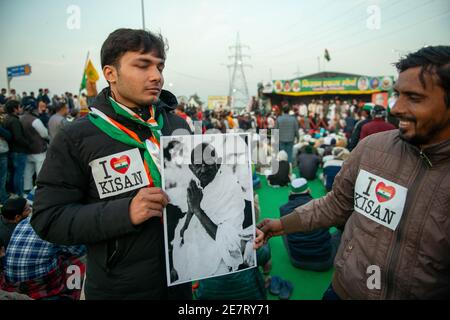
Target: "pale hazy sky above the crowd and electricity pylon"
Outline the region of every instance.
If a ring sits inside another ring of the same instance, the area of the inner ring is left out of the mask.
[[[79,29],[67,28],[70,5],[80,9]],[[379,29],[367,26],[370,6],[379,8]],[[203,100],[228,93],[225,65],[237,32],[250,47],[251,95],[271,76],[317,72],[325,48],[332,60],[322,58],[322,70],[396,75],[400,54],[450,45],[450,0],[145,0],[145,19],[169,43],[166,88]],[[101,45],[120,27],[142,27],[140,0],[0,0],[0,87],[7,66],[30,63],[32,75],[12,82],[19,92],[77,92],[87,51],[100,71]]]

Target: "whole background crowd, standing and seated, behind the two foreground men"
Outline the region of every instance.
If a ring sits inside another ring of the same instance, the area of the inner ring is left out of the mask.
[[[30,92],[30,95],[26,95],[24,92],[21,98],[13,90],[9,96],[6,96],[3,90],[2,96],[0,96],[2,102],[0,106],[2,108],[0,109],[2,139],[0,142],[4,146],[4,152],[1,155],[2,159],[5,159],[2,184],[0,185],[1,203],[4,207],[0,224],[2,236],[0,245],[4,255],[2,287],[4,290],[25,294],[34,299],[77,299],[80,296],[80,290],[67,291],[66,287],[61,285],[67,281],[67,274],[61,270],[67,268],[68,263],[76,263],[84,268],[84,264],[81,262],[85,254],[83,246],[61,247],[40,239],[31,228],[28,217],[31,209],[24,200],[24,197],[33,193],[48,145],[62,127],[80,117],[81,108],[86,106],[84,95],[78,99],[77,96],[65,93],[60,97],[55,95],[50,100],[48,94],[48,89],[39,89],[38,97],[35,98],[33,92]],[[349,155],[347,149],[349,141],[356,145],[360,139],[365,137],[363,133],[369,135],[395,128],[387,122],[384,107],[356,101],[349,105],[345,101],[341,103],[339,98],[334,101],[325,101],[325,103],[313,99],[308,106],[306,104],[291,106],[283,103],[281,108],[274,106],[271,112],[256,109],[239,114],[233,113],[227,108],[203,110],[178,104],[174,113],[184,119],[192,131],[195,129],[194,123],[201,121],[203,133],[210,129],[215,129],[215,132],[220,133],[236,130],[258,133],[268,129],[269,134],[271,129],[279,130],[279,143],[275,143],[272,148],[269,148],[273,152],[277,150],[276,147],[281,150],[278,154],[272,154],[273,161],[277,162],[277,171],[268,176],[268,181],[272,186],[296,186],[299,185],[299,181],[301,185],[300,188],[292,187],[289,201],[280,208],[281,216],[290,212],[289,208],[292,206],[305,204],[312,200],[309,189],[305,187],[306,181],[319,177],[318,172],[321,167],[323,175],[320,178],[323,179],[326,189],[331,190],[334,177]],[[340,120],[336,122],[334,121],[336,119]],[[378,125],[374,129],[366,130],[371,124],[376,124],[378,121],[385,125],[381,127]],[[357,132],[359,135],[355,135],[357,128],[359,128]],[[292,173],[292,169],[295,167],[298,167],[299,173],[304,179],[298,179]],[[11,207],[15,208],[15,211],[12,211]],[[23,239],[24,236],[29,239]],[[10,239],[12,240],[10,241]],[[312,234],[289,235],[285,237],[285,244],[294,266],[321,271],[332,266],[339,239],[340,233],[331,237],[328,231],[323,229]],[[305,241],[308,242],[310,248],[309,253],[306,254],[304,252]],[[9,247],[10,242],[19,248]],[[28,246],[32,248],[33,252],[36,251],[40,254],[46,252],[42,254],[42,261],[39,262],[47,266],[44,268],[45,272],[33,272],[33,268],[36,266],[30,266],[29,261],[35,260],[27,261],[22,257],[20,261],[15,261],[17,260],[15,259],[16,252],[24,250],[24,246]],[[314,246],[317,247],[318,253],[311,251]],[[260,261],[260,257],[264,257],[264,260]],[[266,298],[266,289],[270,288],[271,292],[278,292],[278,289],[274,289],[274,286],[277,285],[276,281],[273,281],[270,286],[271,278],[268,277],[270,267],[267,268],[269,258],[270,249],[268,247],[258,250],[258,265],[265,266],[265,276],[260,267],[237,275],[202,280],[197,284],[196,297],[198,299],[214,299],[215,297],[229,298],[235,295],[245,298],[251,292],[249,297],[262,299]],[[28,270],[26,276],[15,276],[15,273],[18,272],[18,265],[19,270],[20,268]],[[223,283],[231,281],[230,279],[246,282],[247,285],[241,287],[243,290],[237,289],[235,286],[228,286],[228,291],[222,290],[221,294],[213,294],[216,290],[213,288],[222,287]],[[277,276],[274,279],[277,280]],[[52,285],[46,286],[45,282]],[[20,286],[20,283],[27,285]],[[280,283],[279,285],[282,285],[283,281]],[[285,283],[290,284],[290,282]],[[290,297],[293,288],[290,287],[289,290],[289,293],[285,294],[286,299]]]

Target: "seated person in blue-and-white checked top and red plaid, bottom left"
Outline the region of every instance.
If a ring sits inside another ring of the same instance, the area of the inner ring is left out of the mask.
[[[42,240],[28,217],[12,234],[0,288],[33,299],[78,300],[85,272],[80,258],[85,254],[84,246],[61,246]]]

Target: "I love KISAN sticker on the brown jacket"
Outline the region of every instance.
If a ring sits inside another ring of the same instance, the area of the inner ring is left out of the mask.
[[[405,187],[361,170],[355,184],[354,209],[395,230],[403,215],[407,193]]]

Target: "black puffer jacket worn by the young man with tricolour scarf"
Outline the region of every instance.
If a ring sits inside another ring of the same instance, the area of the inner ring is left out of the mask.
[[[109,95],[104,89],[93,107],[148,138],[148,128],[114,112]],[[160,98],[167,102],[157,107],[156,117],[164,117],[162,134],[189,131],[172,112],[176,98],[167,91]],[[113,140],[88,117],[62,128],[38,177],[31,224],[47,241],[87,245],[87,299],[189,299],[190,285],[167,288],[161,220],[131,224],[128,207],[138,190],[99,199],[89,163],[130,149],[134,147]]]

